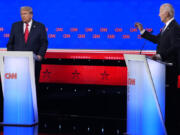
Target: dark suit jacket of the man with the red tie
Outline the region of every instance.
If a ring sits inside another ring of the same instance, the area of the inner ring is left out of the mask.
[[[12,25],[8,51],[33,51],[36,55],[44,57],[48,46],[47,32],[45,26],[33,20],[27,43],[24,40],[23,22]]]

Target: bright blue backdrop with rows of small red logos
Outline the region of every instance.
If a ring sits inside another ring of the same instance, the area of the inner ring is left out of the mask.
[[[171,2],[180,22],[180,1]],[[1,0],[0,48],[6,48],[11,25],[20,21],[20,7],[32,6],[34,19],[45,24],[49,49],[155,50],[140,38],[136,21],[157,34],[164,0]]]

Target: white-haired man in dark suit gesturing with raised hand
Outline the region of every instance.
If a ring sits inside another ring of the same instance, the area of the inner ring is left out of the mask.
[[[171,4],[161,5],[159,16],[165,24],[158,35],[152,35],[143,29],[141,23],[135,23],[141,32],[141,37],[157,44],[156,54],[152,56],[154,60],[162,60],[173,63],[167,67],[166,84],[166,126],[168,133],[178,133],[178,119],[180,91],[177,89],[177,78],[180,74],[180,26],[174,19],[174,8]]]

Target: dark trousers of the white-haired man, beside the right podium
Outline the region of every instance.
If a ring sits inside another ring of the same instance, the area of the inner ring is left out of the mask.
[[[166,68],[166,128],[168,134],[179,133],[179,104],[180,91],[177,88],[177,68],[167,66]]]

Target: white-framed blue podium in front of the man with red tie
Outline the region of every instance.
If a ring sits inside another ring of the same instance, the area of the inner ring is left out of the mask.
[[[1,51],[0,72],[4,99],[1,124],[17,126],[37,124],[33,53]]]

